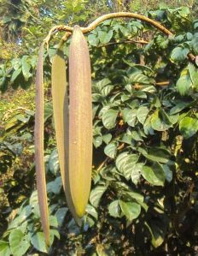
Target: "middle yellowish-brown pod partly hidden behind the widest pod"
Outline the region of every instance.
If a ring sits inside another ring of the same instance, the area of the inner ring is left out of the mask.
[[[69,35],[66,35],[67,39]],[[66,179],[66,170],[68,170],[68,95],[67,95],[67,73],[66,60],[63,52],[64,40],[61,39],[57,47],[55,57],[52,60],[51,68],[51,91],[53,102],[53,113],[55,120],[55,138],[59,155],[61,180],[63,189],[67,197],[67,205],[72,212],[73,217],[80,225],[80,220],[76,216],[73,201],[71,198],[69,182]]]

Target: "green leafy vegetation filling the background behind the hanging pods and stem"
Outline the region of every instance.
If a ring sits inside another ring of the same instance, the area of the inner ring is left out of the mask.
[[[50,27],[86,26],[99,15],[120,10],[144,13],[176,36],[167,38],[140,21],[119,20],[105,21],[87,37],[94,163],[82,229],[67,211],[61,188],[50,103],[50,61],[61,36],[53,39],[45,54],[45,159],[54,241],[48,253],[197,252],[198,74],[187,54],[197,55],[198,21],[196,2],[184,4],[180,8],[183,1],[1,2],[0,255],[47,253],[33,163],[38,46]]]

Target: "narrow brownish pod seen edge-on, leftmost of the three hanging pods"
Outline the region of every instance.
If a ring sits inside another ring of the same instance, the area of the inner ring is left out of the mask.
[[[44,171],[44,72],[43,72],[44,44],[41,45],[36,74],[36,112],[35,112],[35,164],[38,189],[38,205],[41,223],[44,229],[45,241],[50,246],[50,224],[46,180]]]

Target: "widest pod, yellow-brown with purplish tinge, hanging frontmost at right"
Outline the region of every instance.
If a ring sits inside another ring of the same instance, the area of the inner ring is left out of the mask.
[[[79,26],[69,46],[69,169],[75,211],[79,217],[89,199],[92,165],[92,104],[90,54]]]

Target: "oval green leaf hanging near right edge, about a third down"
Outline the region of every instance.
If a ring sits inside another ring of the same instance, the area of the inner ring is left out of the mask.
[[[178,92],[182,96],[188,94],[189,88],[192,86],[192,81],[190,79],[189,73],[181,74],[176,83],[176,86],[178,88]]]

